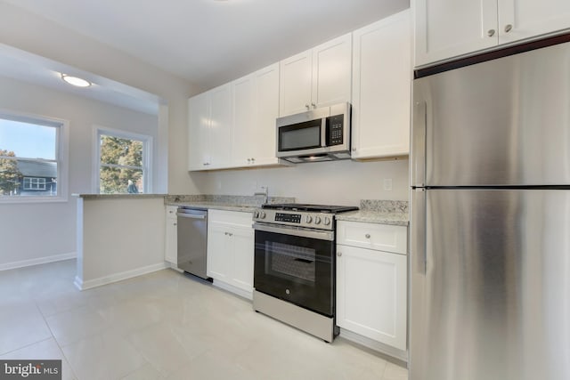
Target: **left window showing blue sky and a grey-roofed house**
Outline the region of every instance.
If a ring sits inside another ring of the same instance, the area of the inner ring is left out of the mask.
[[[66,198],[65,125],[0,112],[0,202]]]

